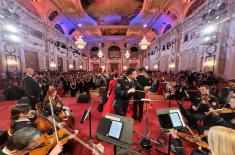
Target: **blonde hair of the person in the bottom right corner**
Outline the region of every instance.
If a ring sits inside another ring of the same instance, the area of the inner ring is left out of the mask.
[[[209,130],[208,143],[212,155],[235,155],[235,130],[214,126]]]

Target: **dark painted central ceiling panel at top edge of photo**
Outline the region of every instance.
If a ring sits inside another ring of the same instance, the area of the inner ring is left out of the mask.
[[[82,7],[99,25],[128,25],[144,0],[81,0]]]

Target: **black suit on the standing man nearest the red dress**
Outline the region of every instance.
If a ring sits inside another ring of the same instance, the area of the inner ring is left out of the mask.
[[[114,89],[115,99],[114,99],[114,113],[117,115],[126,115],[127,107],[129,101],[132,97],[132,93],[127,94],[127,91],[134,88],[134,81],[129,81],[126,76],[119,78],[116,82]]]

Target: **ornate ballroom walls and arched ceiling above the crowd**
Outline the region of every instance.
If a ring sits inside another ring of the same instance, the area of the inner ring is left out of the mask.
[[[232,0],[2,0],[1,73],[144,66],[210,70],[229,79],[235,76],[233,5]]]

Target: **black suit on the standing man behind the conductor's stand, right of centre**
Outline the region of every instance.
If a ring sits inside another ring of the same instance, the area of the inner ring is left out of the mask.
[[[137,80],[135,81],[135,85],[136,85],[136,90],[141,90],[141,91],[144,91],[145,86],[151,86],[149,79],[146,78],[144,75],[139,75],[137,77]],[[134,110],[133,118],[135,120],[138,119],[139,121],[141,121],[142,117],[143,117],[143,104],[144,104],[144,102],[138,101],[138,100],[145,98],[145,93],[135,92],[133,96],[134,96],[134,99],[136,100],[133,103],[133,110]],[[138,109],[139,109],[139,115],[137,115]]]

